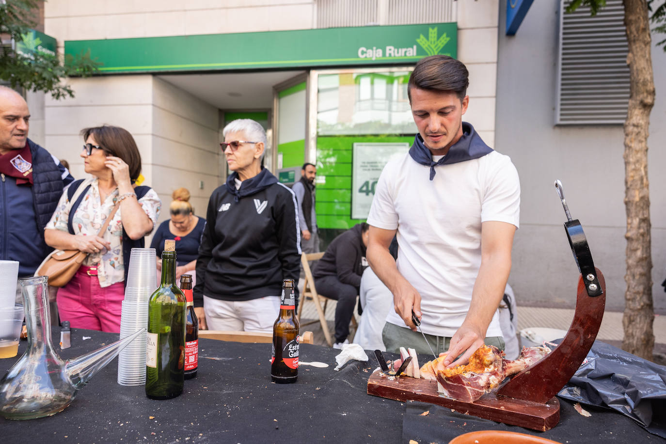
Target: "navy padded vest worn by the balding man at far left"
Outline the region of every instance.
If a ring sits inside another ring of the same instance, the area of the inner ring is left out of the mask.
[[[17,185],[2,174],[0,182],[0,258],[19,261],[19,276],[30,276],[53,250],[44,228],[74,178],[57,158],[28,139],[33,156],[33,186]]]

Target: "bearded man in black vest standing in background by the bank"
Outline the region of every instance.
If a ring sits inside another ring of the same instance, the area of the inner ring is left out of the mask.
[[[300,249],[304,253],[319,251],[317,233],[317,215],[314,211],[314,177],[317,168],[311,163],[304,163],[300,170],[300,180],[292,186],[298,202],[298,224],[300,226]]]

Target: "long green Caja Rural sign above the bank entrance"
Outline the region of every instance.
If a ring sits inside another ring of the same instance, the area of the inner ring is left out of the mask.
[[[105,73],[411,64],[456,57],[456,23],[65,41],[91,51]]]

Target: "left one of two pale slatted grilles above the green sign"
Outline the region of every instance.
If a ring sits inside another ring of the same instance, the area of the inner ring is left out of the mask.
[[[317,0],[317,27],[379,25],[378,0]]]

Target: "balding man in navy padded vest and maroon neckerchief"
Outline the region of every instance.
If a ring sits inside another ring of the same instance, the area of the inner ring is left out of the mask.
[[[19,261],[33,276],[51,248],[44,227],[74,178],[57,158],[28,138],[30,111],[19,93],[0,87],[0,259]],[[17,301],[21,301],[17,290]]]

